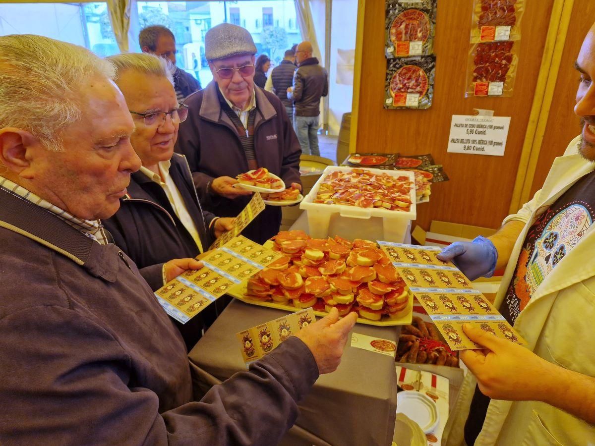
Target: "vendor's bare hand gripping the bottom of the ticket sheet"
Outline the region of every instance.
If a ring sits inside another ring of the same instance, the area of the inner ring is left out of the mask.
[[[544,377],[556,366],[511,341],[465,323],[465,334],[485,350],[461,351],[462,362],[477,378],[481,392],[494,400],[543,398]]]

